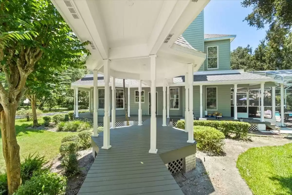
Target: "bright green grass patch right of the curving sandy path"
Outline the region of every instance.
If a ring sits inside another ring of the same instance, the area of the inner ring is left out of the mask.
[[[254,195],[292,194],[292,143],[248,149],[237,168]]]

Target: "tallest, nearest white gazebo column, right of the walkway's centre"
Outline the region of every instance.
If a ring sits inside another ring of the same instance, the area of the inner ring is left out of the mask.
[[[157,153],[156,148],[156,55],[150,55],[151,73],[151,119],[150,119],[150,150]]]

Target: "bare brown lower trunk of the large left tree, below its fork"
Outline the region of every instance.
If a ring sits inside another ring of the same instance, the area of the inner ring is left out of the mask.
[[[21,184],[19,145],[15,132],[16,106],[10,106],[7,113],[0,112],[3,156],[6,163],[8,194],[13,194]]]

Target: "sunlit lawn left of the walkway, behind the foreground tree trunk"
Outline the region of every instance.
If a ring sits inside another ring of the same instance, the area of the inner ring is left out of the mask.
[[[51,116],[53,117],[53,116]],[[34,130],[31,127],[32,121],[24,122],[24,119],[15,120],[17,141],[20,146],[20,158],[24,159],[29,153],[40,153],[46,156],[47,160],[53,159],[59,153],[61,139],[73,132],[51,132],[45,130]],[[43,123],[39,119],[39,123]],[[1,137],[1,135],[0,135]],[[0,172],[5,171],[5,161],[2,153],[2,139],[0,141]]]

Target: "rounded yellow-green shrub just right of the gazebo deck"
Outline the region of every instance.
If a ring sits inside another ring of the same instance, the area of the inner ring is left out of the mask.
[[[194,126],[194,139],[197,148],[208,154],[222,154],[225,145],[225,136],[213,127]]]

